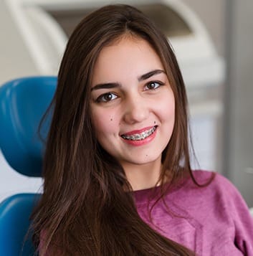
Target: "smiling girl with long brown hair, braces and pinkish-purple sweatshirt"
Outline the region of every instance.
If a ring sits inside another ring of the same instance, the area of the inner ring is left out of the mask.
[[[80,22],[52,105],[40,255],[253,255],[237,189],[191,171],[181,72],[140,11],[105,6]]]

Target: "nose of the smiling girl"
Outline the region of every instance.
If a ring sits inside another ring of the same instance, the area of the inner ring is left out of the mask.
[[[149,108],[143,98],[131,98],[124,105],[124,120],[126,123],[140,123],[148,118]]]

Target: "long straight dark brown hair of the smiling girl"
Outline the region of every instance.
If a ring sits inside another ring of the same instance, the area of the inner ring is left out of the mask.
[[[72,33],[59,69],[44,156],[44,194],[32,215],[34,241],[43,240],[40,255],[193,255],[143,222],[122,166],[96,140],[90,115],[92,72],[101,49],[125,34],[145,39],[156,50],[175,97],[161,184],[168,170],[172,183],[184,174],[192,176],[186,90],[168,39],[131,6],[94,11]]]

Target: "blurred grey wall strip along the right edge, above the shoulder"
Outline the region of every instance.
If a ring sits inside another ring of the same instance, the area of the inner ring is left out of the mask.
[[[253,207],[253,1],[229,1],[226,54],[226,170]]]

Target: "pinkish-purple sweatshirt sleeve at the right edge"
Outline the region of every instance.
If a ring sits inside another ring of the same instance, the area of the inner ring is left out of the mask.
[[[224,177],[221,179],[224,180],[230,217],[234,221],[234,244],[244,255],[253,256],[253,217],[237,188]]]

